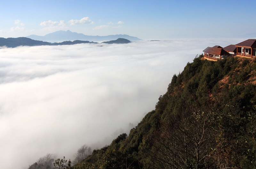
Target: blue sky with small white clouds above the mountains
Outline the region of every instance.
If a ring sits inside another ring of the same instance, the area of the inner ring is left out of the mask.
[[[235,37],[256,32],[255,0],[2,1],[0,37],[70,30],[140,39]]]

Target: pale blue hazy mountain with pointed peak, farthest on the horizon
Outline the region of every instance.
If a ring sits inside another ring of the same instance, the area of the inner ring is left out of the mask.
[[[141,40],[137,37],[133,37],[129,35],[120,34],[120,35],[108,35],[108,36],[89,36],[89,35],[84,35],[83,33],[71,32],[69,30],[57,31],[57,32],[49,33],[44,36],[29,35],[26,38],[30,38],[33,40],[47,41],[47,42],[62,42],[62,41],[69,41],[69,40],[70,41],[85,40],[85,41],[99,42],[99,41],[116,40],[118,38],[124,38],[130,41]]]

